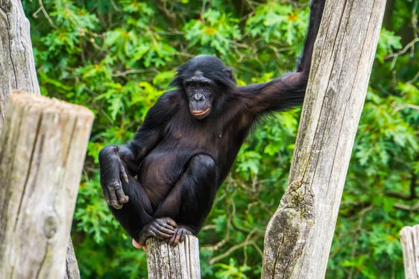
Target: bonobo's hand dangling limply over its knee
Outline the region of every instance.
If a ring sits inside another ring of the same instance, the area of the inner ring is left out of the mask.
[[[122,190],[122,181],[128,183],[128,174],[117,153],[117,146],[106,146],[99,153],[101,186],[106,203],[115,209],[122,209],[128,196]]]

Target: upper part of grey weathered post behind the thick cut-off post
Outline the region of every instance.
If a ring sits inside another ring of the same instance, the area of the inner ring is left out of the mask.
[[[13,89],[40,94],[29,20],[22,3],[0,0],[0,130],[8,94]]]

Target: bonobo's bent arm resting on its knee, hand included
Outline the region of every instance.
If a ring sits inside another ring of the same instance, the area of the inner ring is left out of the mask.
[[[163,94],[147,112],[131,142],[106,146],[99,153],[103,196],[115,209],[121,209],[122,204],[128,202],[129,197],[122,190],[122,181],[128,183],[128,176],[137,175],[140,162],[161,140],[164,124],[172,113],[171,107],[168,93]]]

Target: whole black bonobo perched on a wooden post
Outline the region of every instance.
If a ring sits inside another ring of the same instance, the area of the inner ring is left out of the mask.
[[[176,89],[160,96],[131,142],[101,150],[103,195],[137,247],[198,234],[252,123],[302,104],[324,3],[311,1],[295,73],[237,87],[232,68],[196,56],[177,68]]]

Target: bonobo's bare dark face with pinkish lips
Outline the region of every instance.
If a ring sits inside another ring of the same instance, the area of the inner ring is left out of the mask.
[[[210,114],[214,86],[214,82],[204,77],[200,70],[197,70],[189,79],[184,80],[184,89],[189,100],[189,110],[196,119],[204,119]]]

